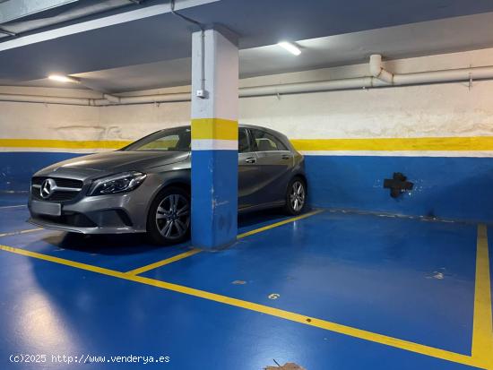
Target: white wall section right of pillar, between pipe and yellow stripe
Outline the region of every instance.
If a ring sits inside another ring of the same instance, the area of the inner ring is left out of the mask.
[[[492,135],[492,92],[493,82],[477,82],[252,98],[240,117],[291,138]]]

